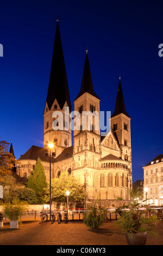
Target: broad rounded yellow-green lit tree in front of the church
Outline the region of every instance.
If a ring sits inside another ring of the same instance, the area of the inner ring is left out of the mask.
[[[77,178],[67,172],[62,172],[59,178],[52,179],[51,191],[52,200],[55,202],[65,202],[66,191],[70,192],[70,200],[83,202],[86,197],[85,189]],[[49,202],[49,183],[45,189],[45,200]]]

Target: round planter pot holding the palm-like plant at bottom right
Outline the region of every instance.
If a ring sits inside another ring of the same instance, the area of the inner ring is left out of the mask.
[[[145,245],[147,241],[147,232],[126,234],[128,245]]]

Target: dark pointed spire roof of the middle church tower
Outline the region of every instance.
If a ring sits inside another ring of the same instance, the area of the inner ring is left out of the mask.
[[[90,93],[91,95],[93,95],[93,96],[97,97],[97,99],[99,99],[99,97],[96,95],[96,93],[93,90],[93,84],[92,84],[90,64],[89,64],[87,50],[86,50],[82,84],[80,87],[80,92],[75,100],[77,100],[78,97],[82,96],[84,93]]]

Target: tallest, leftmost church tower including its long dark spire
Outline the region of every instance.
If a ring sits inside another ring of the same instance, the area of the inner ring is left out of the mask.
[[[65,111],[66,107],[66,111]],[[57,156],[67,147],[71,147],[72,137],[69,114],[71,101],[68,89],[64,54],[57,18],[57,28],[53,48],[51,74],[44,111],[44,147],[47,143],[55,143]]]

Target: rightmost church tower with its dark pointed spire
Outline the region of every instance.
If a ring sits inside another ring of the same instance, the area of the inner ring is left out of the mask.
[[[126,112],[124,98],[121,85],[121,77],[118,84],[118,92],[116,98],[115,111],[111,115],[111,130],[121,148],[121,159],[129,162],[129,176],[132,175],[131,167],[131,130],[130,116]]]

